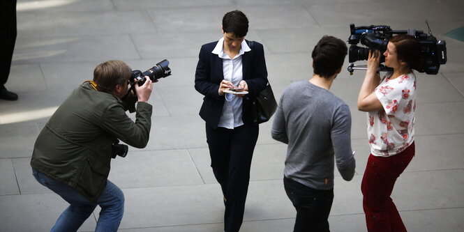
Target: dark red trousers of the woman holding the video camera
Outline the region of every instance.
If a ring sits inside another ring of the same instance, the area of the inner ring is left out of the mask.
[[[363,208],[369,232],[406,231],[403,220],[391,200],[396,179],[406,169],[415,153],[414,143],[390,157],[370,155],[361,183]]]

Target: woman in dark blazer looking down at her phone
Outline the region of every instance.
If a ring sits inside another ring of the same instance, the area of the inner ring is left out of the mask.
[[[250,107],[267,85],[264,49],[244,40],[247,32],[244,13],[226,13],[223,38],[202,46],[195,72],[195,89],[204,95],[200,116],[206,122],[211,167],[224,195],[225,231],[239,231],[244,217],[259,132]],[[226,93],[233,88],[238,88],[234,94]]]

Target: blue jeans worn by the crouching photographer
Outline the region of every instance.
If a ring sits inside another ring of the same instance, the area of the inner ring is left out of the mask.
[[[124,194],[110,180],[107,180],[105,190],[98,198],[96,203],[92,203],[82,194],[77,192],[73,187],[69,187],[57,180],[49,178],[43,173],[32,169],[33,176],[38,183],[49,188],[65,201],[70,203],[70,206],[61,213],[56,224],[50,230],[52,232],[70,232],[77,231],[85,220],[91,215],[96,206],[100,206],[100,217],[95,231],[117,231],[124,214]]]

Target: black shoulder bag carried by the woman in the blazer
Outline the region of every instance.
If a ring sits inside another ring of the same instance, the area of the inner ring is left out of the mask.
[[[250,55],[251,61],[253,63],[253,44],[254,41],[250,41]],[[260,124],[265,123],[271,119],[271,116],[276,112],[277,109],[277,102],[276,98],[274,97],[274,93],[272,92],[271,84],[269,84],[269,80],[267,82],[266,88],[263,91],[258,93],[255,98],[252,100],[252,116],[253,116],[253,123]]]

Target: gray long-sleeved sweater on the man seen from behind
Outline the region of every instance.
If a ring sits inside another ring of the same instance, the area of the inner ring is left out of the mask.
[[[334,187],[334,157],[345,180],[354,176],[348,106],[308,81],[294,82],[282,96],[271,135],[288,144],[284,174],[316,190]]]

